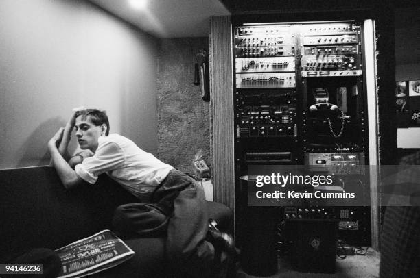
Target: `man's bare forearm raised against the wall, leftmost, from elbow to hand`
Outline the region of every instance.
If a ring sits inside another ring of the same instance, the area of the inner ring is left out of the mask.
[[[82,184],[83,180],[75,173],[75,170],[71,168],[64,157],[62,157],[60,151],[58,151],[57,144],[62,140],[64,131],[65,128],[63,127],[57,131],[53,138],[49,140],[48,149],[54,163],[54,168],[56,168],[58,173],[58,177],[60,177],[65,188],[69,189]]]

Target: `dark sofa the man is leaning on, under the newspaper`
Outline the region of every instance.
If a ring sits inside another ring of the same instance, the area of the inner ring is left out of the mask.
[[[0,170],[0,262],[33,248],[54,250],[104,229],[112,231],[115,208],[136,202],[106,175],[95,186],[65,190],[49,166]],[[207,205],[209,217],[229,230],[231,210],[220,203]],[[122,239],[135,255],[93,277],[187,277],[169,269],[165,238]]]

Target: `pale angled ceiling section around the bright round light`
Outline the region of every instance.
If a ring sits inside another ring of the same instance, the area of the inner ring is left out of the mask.
[[[231,14],[219,0],[145,0],[144,10],[130,0],[89,1],[158,38],[208,36],[210,16]]]

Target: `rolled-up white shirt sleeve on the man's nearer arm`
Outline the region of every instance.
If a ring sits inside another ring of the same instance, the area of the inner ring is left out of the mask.
[[[98,147],[95,155],[86,157],[75,166],[75,173],[89,184],[95,184],[97,176],[124,166],[125,155],[115,142],[104,142]]]

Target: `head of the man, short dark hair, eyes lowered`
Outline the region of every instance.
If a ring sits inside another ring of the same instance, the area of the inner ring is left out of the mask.
[[[84,109],[76,112],[75,130],[81,149],[95,152],[100,136],[108,136],[109,121],[105,111]]]

